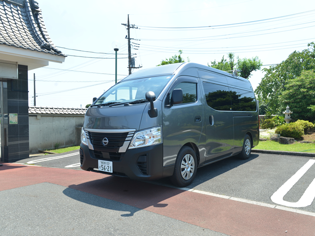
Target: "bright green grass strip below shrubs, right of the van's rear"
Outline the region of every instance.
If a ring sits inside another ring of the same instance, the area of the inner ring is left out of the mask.
[[[302,151],[302,152],[314,152],[315,143],[302,144],[295,142],[294,144],[279,144],[275,141],[259,141],[259,144],[253,149],[261,150],[277,150],[277,151]]]

